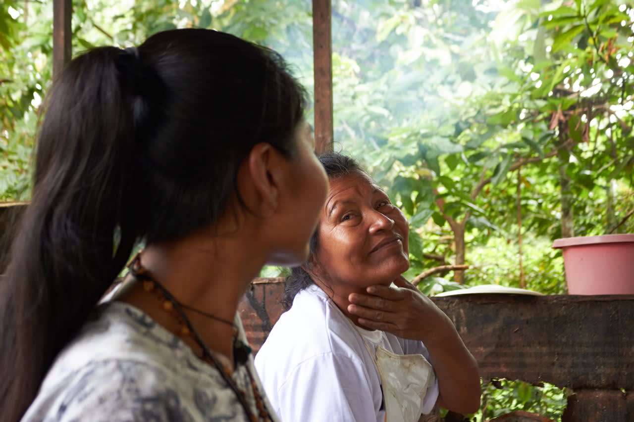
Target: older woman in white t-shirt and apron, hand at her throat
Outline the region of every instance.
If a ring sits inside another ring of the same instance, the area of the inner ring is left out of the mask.
[[[289,422],[418,421],[436,404],[476,411],[474,357],[401,276],[403,213],[353,159],[320,160],[330,192],[311,254],[287,279],[292,307],[256,357],[275,411]]]

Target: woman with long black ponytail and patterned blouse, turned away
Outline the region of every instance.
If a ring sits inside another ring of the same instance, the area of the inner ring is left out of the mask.
[[[275,420],[236,307],[307,257],[327,178],[303,114],[280,56],[222,32],[67,65],[0,279],[1,421]]]

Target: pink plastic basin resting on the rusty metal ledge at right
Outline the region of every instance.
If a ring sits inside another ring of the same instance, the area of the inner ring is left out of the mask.
[[[634,234],[557,239],[571,295],[634,295]]]

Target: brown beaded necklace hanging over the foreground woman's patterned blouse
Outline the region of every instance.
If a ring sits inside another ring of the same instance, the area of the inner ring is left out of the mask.
[[[160,285],[159,282],[153,279],[152,276],[148,274],[148,271],[145,269],[145,267],[141,265],[141,252],[143,251],[139,251],[138,253],[136,253],[136,255],[134,255],[134,258],[127,265],[127,268],[130,274],[132,274],[134,278],[138,279],[139,281],[143,283],[143,291],[154,295],[161,302],[163,310],[171,314],[171,316],[174,317],[174,319],[176,319],[176,322],[178,323],[180,327],[179,329],[180,336],[190,337],[198,344],[198,346],[200,346],[200,348],[202,349],[202,355],[198,357],[202,361],[206,362],[207,364],[210,364],[211,366],[213,366],[219,371],[219,373],[223,377],[223,380],[229,385],[231,390],[233,390],[233,393],[235,393],[236,398],[238,399],[238,402],[240,402],[240,404],[242,405],[242,408],[244,409],[245,413],[249,417],[250,421],[252,422],[273,421],[273,419],[271,418],[271,415],[266,409],[266,405],[264,404],[264,399],[262,398],[262,396],[259,393],[259,390],[257,389],[256,381],[254,380],[251,374],[251,371],[249,371],[249,366],[246,366],[246,363],[249,359],[249,354],[251,353],[252,350],[248,345],[243,343],[238,338],[238,335],[237,335],[238,330],[235,328],[233,323],[230,323],[226,319],[222,319],[222,318],[213,316],[211,314],[207,314],[206,312],[202,310],[198,310],[178,302],[178,300],[176,300],[176,298],[174,298],[174,296],[172,296],[172,294],[169,293],[169,291],[164,286]],[[234,361],[239,364],[245,364],[245,369],[247,371],[247,374],[249,375],[250,387],[252,389],[254,397],[256,398],[256,407],[258,411],[257,416],[250,411],[249,404],[247,403],[247,394],[243,390],[241,390],[238,387],[238,385],[236,385],[235,381],[231,377],[231,370],[228,368],[228,366],[223,365],[218,360],[218,358],[214,354],[212,354],[212,352],[210,352],[207,345],[205,345],[202,338],[200,338],[197,331],[193,328],[188,317],[184,314],[183,309],[188,309],[193,312],[197,312],[200,315],[203,315],[210,319],[215,319],[216,321],[219,321],[224,324],[229,324],[230,326],[233,327]]]

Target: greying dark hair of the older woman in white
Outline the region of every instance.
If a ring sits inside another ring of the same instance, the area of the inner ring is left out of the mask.
[[[335,180],[348,174],[367,174],[361,165],[352,157],[343,155],[342,153],[330,152],[320,155],[319,160],[323,168],[326,170],[328,179]],[[285,308],[290,308],[293,304],[295,295],[306,289],[308,286],[314,285],[314,280],[306,269],[311,269],[314,265],[319,265],[316,258],[317,248],[319,246],[319,229],[316,229],[311,236],[309,243],[309,255],[304,265],[301,267],[293,267],[290,275],[284,281],[284,298],[281,301]]]

